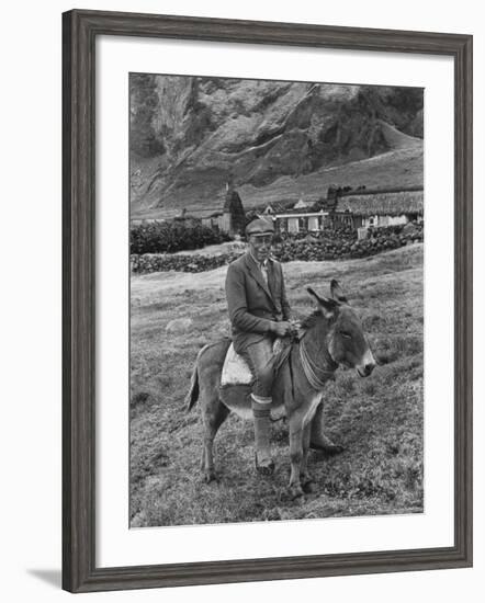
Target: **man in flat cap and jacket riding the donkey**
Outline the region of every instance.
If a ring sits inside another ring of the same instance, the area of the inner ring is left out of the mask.
[[[273,343],[294,333],[280,262],[271,258],[274,226],[255,219],[246,227],[248,249],[229,264],[226,297],[235,351],[248,363],[255,382],[251,408],[255,421],[256,467],[271,475],[270,406],[274,380]],[[327,453],[341,451],[323,433],[323,405],[312,421],[311,446]]]

